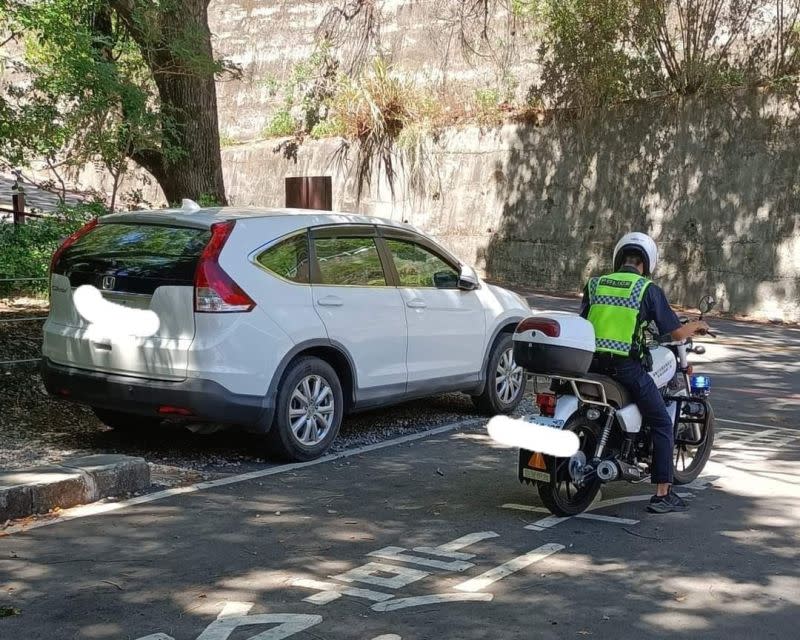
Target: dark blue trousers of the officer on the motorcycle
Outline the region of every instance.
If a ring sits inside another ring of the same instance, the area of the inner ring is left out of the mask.
[[[614,378],[631,392],[636,406],[642,412],[644,424],[650,427],[653,438],[653,463],[650,469],[651,482],[672,483],[672,456],[675,448],[675,433],[672,420],[667,413],[664,399],[653,379],[640,362],[632,358],[615,359],[613,368],[599,371]]]

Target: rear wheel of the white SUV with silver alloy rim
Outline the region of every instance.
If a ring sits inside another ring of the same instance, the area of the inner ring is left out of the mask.
[[[336,439],[343,416],[342,385],[333,367],[313,356],[299,358],[278,387],[270,451],[291,462],[319,458]]]

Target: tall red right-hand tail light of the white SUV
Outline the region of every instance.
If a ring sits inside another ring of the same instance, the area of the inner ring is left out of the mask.
[[[194,274],[194,310],[197,313],[232,313],[250,311],[253,299],[233,281],[221,266],[219,254],[233,231],[235,221],[211,225],[209,240]]]

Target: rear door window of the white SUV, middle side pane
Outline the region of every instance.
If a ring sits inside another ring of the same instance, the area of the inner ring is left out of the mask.
[[[355,287],[386,286],[375,238],[314,238],[316,269],[313,284]]]

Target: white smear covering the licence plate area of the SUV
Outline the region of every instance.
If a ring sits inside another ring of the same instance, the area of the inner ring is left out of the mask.
[[[158,331],[161,322],[150,309],[129,309],[109,302],[91,285],[78,287],[72,295],[75,308],[90,323],[91,330],[104,337],[138,336],[146,338]]]

